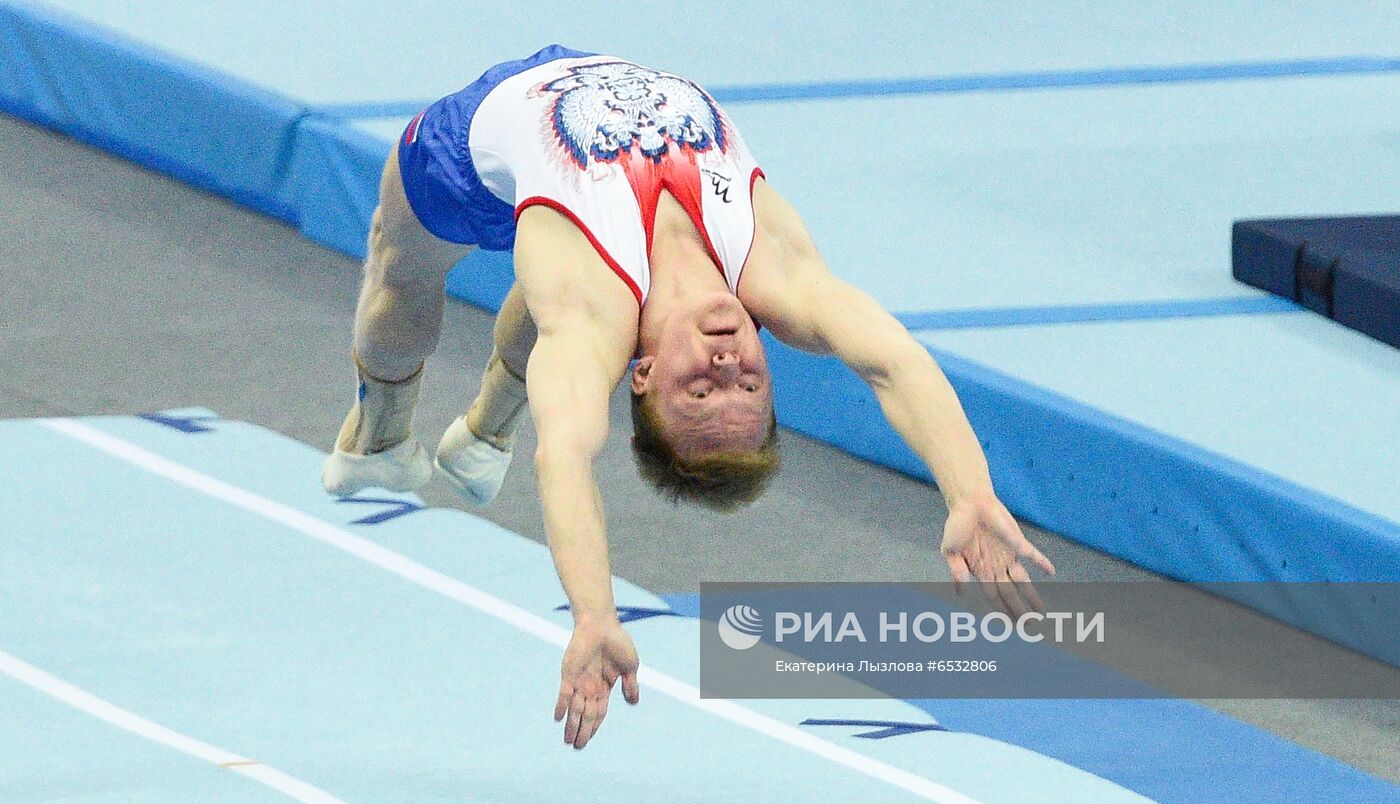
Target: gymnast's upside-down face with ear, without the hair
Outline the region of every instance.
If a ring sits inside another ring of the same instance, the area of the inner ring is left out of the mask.
[[[655,354],[637,361],[631,388],[652,396],[685,459],[757,450],[769,436],[767,359],[757,326],[731,293],[704,294],[672,312]]]

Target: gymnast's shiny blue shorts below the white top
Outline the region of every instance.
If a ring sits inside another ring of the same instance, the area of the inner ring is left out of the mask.
[[[594,55],[550,45],[526,59],[491,67],[413,118],[399,140],[399,172],[409,206],[423,228],[442,240],[487,251],[510,251],[515,245],[515,207],[491,195],[472,164],[468,148],[472,115],[486,94],[511,76],[559,59]]]

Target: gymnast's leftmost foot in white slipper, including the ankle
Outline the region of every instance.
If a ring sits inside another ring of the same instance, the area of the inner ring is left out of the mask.
[[[391,492],[421,489],[433,478],[433,461],[413,438],[423,367],[396,382],[371,377],[358,357],[356,367],[356,402],[340,426],[335,451],[326,457],[321,483],[339,496],[370,486]]]

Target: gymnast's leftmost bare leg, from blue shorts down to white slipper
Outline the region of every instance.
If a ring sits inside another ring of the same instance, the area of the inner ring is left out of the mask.
[[[322,471],[328,492],[353,494],[368,486],[412,492],[433,476],[427,450],[413,438],[413,410],[423,361],[437,349],[442,328],[447,272],[470,251],[423,228],[405,196],[398,155],[391,155],[356,308],[356,401]]]

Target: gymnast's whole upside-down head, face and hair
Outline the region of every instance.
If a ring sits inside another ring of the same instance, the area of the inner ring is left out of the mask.
[[[778,466],[763,343],[725,291],[679,305],[631,374],[631,447],[643,478],[672,500],[732,511]]]

